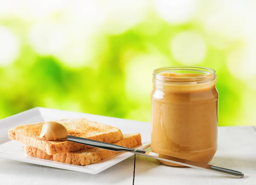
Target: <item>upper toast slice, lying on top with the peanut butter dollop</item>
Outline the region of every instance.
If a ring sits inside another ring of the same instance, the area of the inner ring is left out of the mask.
[[[103,142],[114,143],[123,139],[120,129],[89,121],[87,119],[66,119],[58,120],[67,128],[68,134],[72,136],[84,137]],[[9,130],[9,139],[15,139],[25,145],[38,148],[48,155],[55,155],[64,152],[78,151],[86,148],[92,148],[75,142],[57,139],[56,141],[47,141],[40,138],[40,133],[44,122],[17,126]]]

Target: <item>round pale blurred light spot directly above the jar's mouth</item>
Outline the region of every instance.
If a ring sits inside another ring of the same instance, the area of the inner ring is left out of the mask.
[[[183,65],[201,63],[207,52],[204,38],[195,31],[183,31],[175,35],[170,49],[175,60]]]

